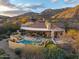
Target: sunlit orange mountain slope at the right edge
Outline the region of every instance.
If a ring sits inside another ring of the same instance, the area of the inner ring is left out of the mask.
[[[57,19],[79,19],[79,5],[52,16]]]

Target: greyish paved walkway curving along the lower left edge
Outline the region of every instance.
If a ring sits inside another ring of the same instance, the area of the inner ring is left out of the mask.
[[[0,48],[5,50],[5,52],[10,55],[10,59],[16,59],[15,53],[9,48],[7,39],[0,41]]]

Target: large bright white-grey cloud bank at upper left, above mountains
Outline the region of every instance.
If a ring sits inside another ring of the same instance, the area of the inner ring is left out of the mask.
[[[17,16],[26,12],[30,12],[33,9],[42,8],[42,4],[12,4],[10,0],[0,0],[0,15]]]

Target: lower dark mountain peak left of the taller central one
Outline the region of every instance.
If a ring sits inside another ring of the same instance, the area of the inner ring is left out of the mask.
[[[22,19],[22,18],[27,18],[28,20],[34,18],[38,20],[38,19],[41,19],[42,17],[39,13],[35,13],[35,12],[28,12],[22,15],[11,17],[11,19]]]

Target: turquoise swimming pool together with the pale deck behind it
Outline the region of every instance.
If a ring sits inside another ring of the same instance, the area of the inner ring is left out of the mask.
[[[21,43],[21,44],[38,44],[41,43],[42,40],[44,40],[43,38],[29,38],[29,37],[21,37],[22,40],[18,41],[17,43]]]

